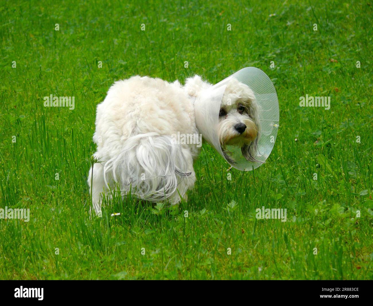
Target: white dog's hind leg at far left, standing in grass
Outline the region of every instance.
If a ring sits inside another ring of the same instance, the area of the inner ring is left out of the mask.
[[[102,193],[107,189],[104,181],[104,167],[100,163],[95,163],[92,167],[90,168],[90,173],[88,175],[90,193],[92,191],[92,207],[90,212],[93,208],[96,214],[100,216],[103,197]]]

